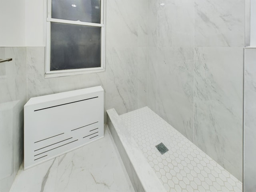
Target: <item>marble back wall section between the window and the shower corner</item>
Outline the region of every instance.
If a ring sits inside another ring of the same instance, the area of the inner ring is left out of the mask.
[[[106,109],[146,106],[148,0],[107,1]]]

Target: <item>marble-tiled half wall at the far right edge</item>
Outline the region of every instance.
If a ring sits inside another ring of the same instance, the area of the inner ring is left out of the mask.
[[[244,192],[256,189],[256,48],[244,49]]]

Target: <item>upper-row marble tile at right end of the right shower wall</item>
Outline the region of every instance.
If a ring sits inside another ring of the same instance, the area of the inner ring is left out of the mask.
[[[195,0],[195,46],[244,46],[244,0]]]

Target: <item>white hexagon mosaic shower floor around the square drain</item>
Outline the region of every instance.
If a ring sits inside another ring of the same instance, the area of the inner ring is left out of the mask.
[[[150,108],[120,115],[169,192],[242,192],[242,183]],[[156,145],[169,151],[161,154]]]

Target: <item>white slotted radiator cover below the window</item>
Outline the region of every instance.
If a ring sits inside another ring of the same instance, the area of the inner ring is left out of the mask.
[[[103,136],[101,86],[30,98],[24,106],[24,170]]]

